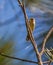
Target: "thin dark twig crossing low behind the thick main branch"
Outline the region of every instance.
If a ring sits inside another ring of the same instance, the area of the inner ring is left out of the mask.
[[[0,55],[3,56],[3,57],[7,57],[7,58],[10,58],[10,59],[14,59],[14,60],[20,60],[20,61],[24,61],[24,62],[29,62],[29,63],[36,63],[36,64],[38,64],[38,62],[35,62],[35,61],[31,61],[31,60],[26,60],[26,59],[21,59],[21,58],[17,58],[17,57],[5,55],[4,53],[1,53],[1,52],[0,52]],[[44,61],[43,63],[44,63],[44,64],[47,64],[47,63],[49,63],[49,62],[50,62],[50,61]]]

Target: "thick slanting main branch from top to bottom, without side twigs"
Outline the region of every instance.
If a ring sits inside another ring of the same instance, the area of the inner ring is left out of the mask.
[[[32,45],[34,47],[34,50],[36,52],[36,56],[37,56],[37,59],[38,59],[38,64],[43,65],[42,60],[41,60],[41,56],[40,56],[38,48],[37,48],[37,44],[35,43],[34,37],[32,35],[32,31],[31,31],[29,23],[28,23],[28,16],[27,16],[26,11],[25,11],[24,3],[22,3],[20,0],[18,0],[18,2],[21,6],[21,9],[22,9],[24,17],[25,17],[27,32],[29,33],[31,43],[32,43]]]

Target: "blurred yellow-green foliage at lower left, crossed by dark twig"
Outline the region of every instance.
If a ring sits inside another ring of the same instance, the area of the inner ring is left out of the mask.
[[[0,44],[2,44],[2,43],[0,43]],[[5,42],[3,44],[4,44],[3,47],[0,48],[0,52],[5,54],[5,55],[11,55],[12,52],[13,52],[13,49],[12,49],[13,44],[12,44],[12,42],[7,41],[7,42]],[[11,63],[11,59],[0,55],[0,65],[10,65],[8,63]]]

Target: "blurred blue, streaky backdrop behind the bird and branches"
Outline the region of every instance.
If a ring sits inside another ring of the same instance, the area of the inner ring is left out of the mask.
[[[24,0],[26,13],[35,18],[33,32],[40,47],[43,39],[53,26],[53,0]],[[23,12],[17,0],[0,0],[0,50],[2,53],[22,59],[37,61],[31,42],[26,41],[27,31]],[[53,48],[53,33],[46,47]],[[45,55],[42,60],[48,60]],[[0,56],[0,65],[36,65]],[[51,64],[53,65],[53,63]]]

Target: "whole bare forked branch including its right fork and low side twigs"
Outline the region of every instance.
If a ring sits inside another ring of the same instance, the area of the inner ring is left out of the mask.
[[[49,36],[51,35],[51,33],[53,32],[53,27],[51,28],[51,30],[48,32],[48,34],[46,35],[44,41],[43,41],[43,45],[42,45],[42,49],[41,51],[39,52],[38,51],[38,48],[37,48],[37,44],[35,42],[35,39],[33,37],[33,34],[32,34],[32,31],[31,31],[31,28],[30,28],[30,25],[29,25],[29,20],[28,20],[28,16],[26,14],[26,10],[25,10],[25,6],[24,6],[24,3],[21,2],[20,0],[17,0],[19,2],[19,5],[23,11],[23,14],[24,14],[24,18],[25,18],[25,24],[26,24],[26,29],[27,29],[27,33],[29,33],[29,36],[30,36],[30,41],[34,47],[34,51],[36,52],[36,56],[37,56],[37,60],[38,62],[35,62],[35,61],[31,61],[31,60],[26,60],[26,59],[20,59],[20,58],[16,58],[16,57],[12,57],[12,56],[8,56],[8,55],[5,55],[3,53],[0,52],[0,55],[1,56],[4,56],[4,57],[7,57],[7,58],[11,58],[11,59],[16,59],[16,60],[21,60],[21,61],[25,61],[25,62],[30,62],[30,63],[36,63],[38,65],[43,65],[43,64],[48,64],[50,61],[45,61],[45,62],[42,62],[42,59],[41,59],[41,56],[44,52],[44,49],[45,49],[45,44],[46,44],[46,41],[47,39],[49,38]]]

